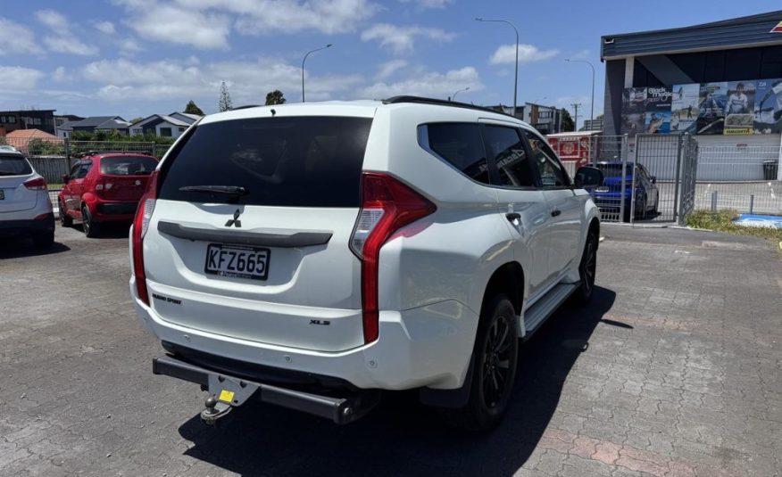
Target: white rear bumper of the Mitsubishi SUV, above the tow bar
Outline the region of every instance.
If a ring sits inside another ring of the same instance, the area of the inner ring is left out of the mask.
[[[223,370],[229,374],[243,374],[241,364],[266,366],[277,375],[314,374],[361,390],[461,387],[478,326],[469,308],[445,301],[402,312],[381,311],[380,337],[370,344],[338,352],[304,350],[166,322],[138,300],[135,277],[130,293],[139,319],[159,340],[233,360],[237,365]]]

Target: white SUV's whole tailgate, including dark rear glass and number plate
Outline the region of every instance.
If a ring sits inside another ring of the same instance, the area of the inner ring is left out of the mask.
[[[370,125],[278,116],[196,127],[162,166],[144,239],[156,313],[280,346],[362,345],[361,264],[349,242]]]

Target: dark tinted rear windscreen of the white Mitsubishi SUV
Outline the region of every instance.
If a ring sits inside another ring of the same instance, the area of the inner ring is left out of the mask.
[[[171,201],[358,207],[370,118],[234,119],[196,127],[163,166]],[[182,187],[244,187],[240,196]]]

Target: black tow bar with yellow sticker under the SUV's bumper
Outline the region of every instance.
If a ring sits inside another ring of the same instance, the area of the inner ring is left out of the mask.
[[[216,424],[229,415],[231,409],[243,405],[248,399],[288,407],[307,414],[319,415],[335,424],[348,424],[366,415],[379,403],[379,391],[361,391],[346,397],[324,396],[311,392],[280,388],[262,382],[217,373],[193,365],[173,356],[161,356],[153,360],[153,373],[165,374],[184,381],[201,384],[209,391],[209,398],[201,411],[204,424]]]

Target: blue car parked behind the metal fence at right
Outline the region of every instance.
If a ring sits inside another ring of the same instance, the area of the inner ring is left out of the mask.
[[[657,190],[657,177],[649,174],[643,164],[628,162],[625,175],[622,177],[622,161],[604,161],[589,164],[603,171],[603,185],[592,188],[595,203],[603,213],[619,215],[622,201],[625,203],[625,222],[630,221],[630,210],[633,200],[633,177],[636,177],[636,218],[655,217],[660,205],[660,192]],[[624,197],[622,197],[622,182],[624,182]]]

